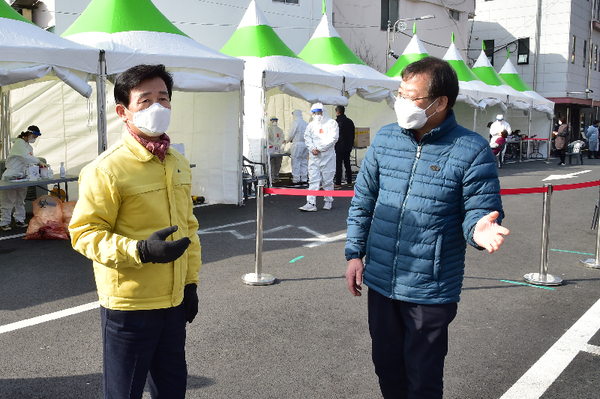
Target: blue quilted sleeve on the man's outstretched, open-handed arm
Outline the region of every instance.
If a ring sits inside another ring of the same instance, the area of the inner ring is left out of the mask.
[[[475,225],[485,215],[498,211],[497,222],[502,223],[504,211],[500,198],[500,181],[489,146],[482,148],[463,177],[462,193],[463,234],[465,240],[477,249],[483,249],[473,240]]]

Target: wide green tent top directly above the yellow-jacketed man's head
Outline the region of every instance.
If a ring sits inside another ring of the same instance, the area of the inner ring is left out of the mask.
[[[62,34],[148,31],[187,36],[161,13],[151,0],[92,0]]]

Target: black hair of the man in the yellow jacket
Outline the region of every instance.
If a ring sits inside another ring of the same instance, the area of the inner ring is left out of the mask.
[[[117,104],[124,105],[125,108],[129,107],[131,101],[131,90],[140,84],[142,80],[152,79],[159,77],[167,86],[169,93],[169,99],[173,94],[173,77],[162,64],[158,65],[136,65],[129,68],[125,72],[119,75],[115,81],[115,102]]]

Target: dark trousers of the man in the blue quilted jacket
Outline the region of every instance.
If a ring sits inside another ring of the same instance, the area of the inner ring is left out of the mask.
[[[369,290],[373,363],[385,399],[440,399],[457,304],[419,305]]]

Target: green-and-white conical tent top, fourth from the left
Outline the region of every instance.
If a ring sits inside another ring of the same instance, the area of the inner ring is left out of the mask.
[[[324,1],[323,11],[325,11]],[[315,29],[315,33],[298,56],[313,65],[366,65],[344,43],[325,13],[323,13],[323,18],[321,18],[319,26]]]

